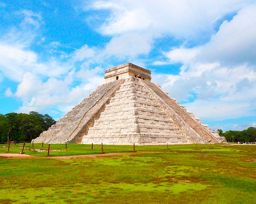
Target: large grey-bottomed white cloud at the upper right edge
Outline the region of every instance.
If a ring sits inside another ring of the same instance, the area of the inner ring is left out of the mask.
[[[256,4],[243,8],[223,22],[198,58],[224,65],[256,64]]]

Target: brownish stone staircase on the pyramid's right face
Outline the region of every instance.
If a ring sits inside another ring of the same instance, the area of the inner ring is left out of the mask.
[[[178,114],[196,133],[198,133],[204,140],[209,143],[219,143],[218,140],[211,135],[204,127],[202,127],[198,122],[192,118],[192,116],[186,112],[176,100],[170,98],[165,92],[161,90],[156,84],[151,82],[145,82],[176,114]]]

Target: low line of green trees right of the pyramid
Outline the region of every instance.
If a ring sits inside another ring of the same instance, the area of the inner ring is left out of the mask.
[[[220,136],[226,137],[228,142],[256,142],[256,128],[254,127],[250,127],[242,131],[229,130],[225,133],[222,133],[222,130],[218,129],[218,133]]]

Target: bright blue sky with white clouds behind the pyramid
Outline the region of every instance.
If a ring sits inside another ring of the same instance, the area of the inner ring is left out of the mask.
[[[255,0],[0,0],[0,113],[58,120],[130,62],[211,129],[256,127]]]

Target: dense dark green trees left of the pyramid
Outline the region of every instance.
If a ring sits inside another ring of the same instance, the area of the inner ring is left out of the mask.
[[[0,142],[30,141],[47,130],[56,121],[48,114],[38,112],[0,114]]]

